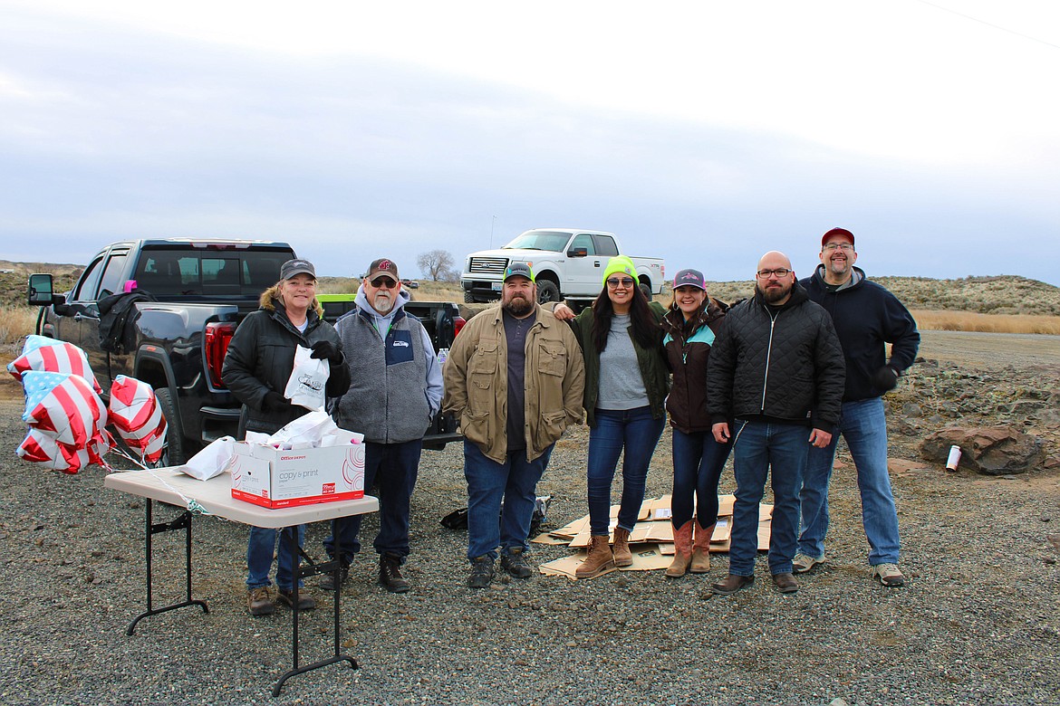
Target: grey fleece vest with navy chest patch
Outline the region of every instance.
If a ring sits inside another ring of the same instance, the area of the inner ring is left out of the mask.
[[[366,441],[403,443],[423,438],[430,426],[423,324],[404,309],[382,338],[371,315],[358,309],[336,324],[350,365],[350,391],[336,410],[336,423]]]

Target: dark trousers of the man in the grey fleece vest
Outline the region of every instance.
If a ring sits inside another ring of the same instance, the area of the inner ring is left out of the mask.
[[[379,533],[373,546],[378,554],[387,554],[405,563],[408,556],[409,499],[416,487],[420,470],[420,452],[423,439],[403,443],[365,443],[365,492],[376,488],[379,499]],[[360,551],[360,521],[354,514],[332,522],[332,533],[324,540],[324,550],[335,557],[335,539],[342,562],[349,564],[353,555]]]

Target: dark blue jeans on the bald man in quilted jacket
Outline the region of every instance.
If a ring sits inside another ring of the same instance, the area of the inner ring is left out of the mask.
[[[732,460],[736,504],[729,546],[729,574],[754,576],[758,551],[758,506],[765,478],[773,483],[770,573],[790,574],[798,544],[798,493],[802,487],[810,428],[764,421],[736,422]]]

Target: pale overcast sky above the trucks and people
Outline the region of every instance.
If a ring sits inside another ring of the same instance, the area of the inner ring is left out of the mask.
[[[0,258],[290,242],[319,274],[616,233],[673,274],[1060,285],[1060,3],[0,4]]]

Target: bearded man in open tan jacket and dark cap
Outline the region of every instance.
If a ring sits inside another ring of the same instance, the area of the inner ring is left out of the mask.
[[[459,417],[464,435],[473,589],[490,585],[498,546],[505,571],[520,579],[533,574],[525,554],[537,481],[555,440],[582,421],[578,340],[536,302],[530,267],[509,265],[500,306],[463,327],[442,373],[442,410]]]

